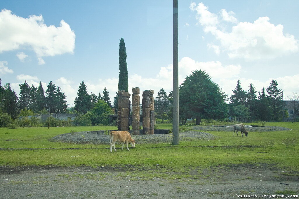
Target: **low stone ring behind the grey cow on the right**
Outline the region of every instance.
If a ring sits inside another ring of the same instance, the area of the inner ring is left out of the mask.
[[[289,131],[292,129],[285,127],[273,127],[273,126],[265,126],[265,127],[245,127],[249,132],[263,132],[263,131]],[[234,127],[202,127],[196,126],[193,127],[194,130],[203,130],[203,131],[232,131],[234,132]]]

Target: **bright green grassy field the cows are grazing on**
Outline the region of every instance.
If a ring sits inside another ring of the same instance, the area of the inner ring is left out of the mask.
[[[249,123],[247,123],[249,124]],[[209,131],[217,138],[202,141],[181,141],[179,146],[171,143],[138,144],[130,151],[118,149],[110,153],[109,147],[93,144],[68,144],[50,142],[49,138],[74,131],[115,129],[116,127],[47,127],[18,129],[0,128],[0,165],[53,165],[53,166],[164,166],[169,169],[192,169],[228,164],[267,163],[285,170],[299,171],[297,122],[273,122],[268,126],[287,127],[290,131],[249,132],[248,137],[233,136],[233,132]],[[169,129],[172,124],[157,124],[158,129]],[[287,141],[297,139],[297,145],[286,147]],[[243,147],[254,145],[255,147]],[[120,146],[120,145],[119,145]],[[216,147],[202,147],[216,146]],[[258,147],[257,147],[258,146]],[[10,150],[7,148],[34,148]],[[43,148],[43,149],[36,149]],[[63,149],[82,148],[82,149]]]

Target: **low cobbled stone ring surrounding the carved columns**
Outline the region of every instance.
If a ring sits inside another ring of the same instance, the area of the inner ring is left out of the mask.
[[[98,134],[99,131],[82,131],[75,133],[65,133],[50,138],[49,141],[68,142],[76,144],[109,144],[109,135]],[[172,142],[172,133],[167,134],[154,134],[154,135],[131,135],[136,143],[161,143]],[[180,141],[192,140],[210,140],[216,137],[210,133],[187,131],[181,132],[179,135]]]

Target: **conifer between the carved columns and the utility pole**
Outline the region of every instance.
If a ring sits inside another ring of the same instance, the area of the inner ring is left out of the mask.
[[[162,119],[162,123],[164,123],[164,119],[166,119],[165,110],[169,107],[170,103],[167,97],[165,90],[162,88],[158,91],[158,95],[155,100],[155,109],[158,113],[159,119]]]

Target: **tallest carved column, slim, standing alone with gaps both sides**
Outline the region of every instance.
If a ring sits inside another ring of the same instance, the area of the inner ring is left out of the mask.
[[[138,87],[132,88],[132,129],[133,135],[139,135],[140,129],[140,89]]]

